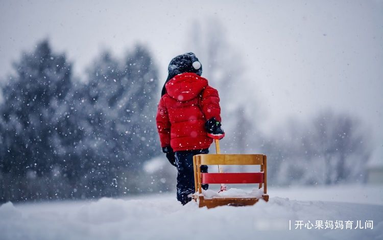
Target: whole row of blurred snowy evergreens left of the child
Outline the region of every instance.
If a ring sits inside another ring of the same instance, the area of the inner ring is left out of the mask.
[[[14,64],[0,105],[0,201],[97,198],[146,191],[142,163],[160,154],[157,69],[135,47],[103,52],[86,81],[40,42]]]

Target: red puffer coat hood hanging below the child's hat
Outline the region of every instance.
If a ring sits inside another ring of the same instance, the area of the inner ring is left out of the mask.
[[[206,88],[206,78],[195,73],[183,73],[176,75],[165,84],[166,92],[178,101],[189,101],[199,95]]]

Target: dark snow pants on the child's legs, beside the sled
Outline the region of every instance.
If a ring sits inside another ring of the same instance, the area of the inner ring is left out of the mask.
[[[209,149],[201,150],[187,150],[176,151],[176,164],[177,164],[177,200],[185,205],[192,201],[191,194],[194,189],[194,169],[193,169],[193,156],[197,154],[208,154]],[[207,165],[201,166],[201,172],[207,172]],[[208,184],[203,184],[202,188],[207,189]]]

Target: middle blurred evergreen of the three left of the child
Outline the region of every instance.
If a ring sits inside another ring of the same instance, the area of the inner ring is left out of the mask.
[[[85,197],[117,195],[115,179],[125,159],[125,131],[119,127],[124,123],[118,118],[125,89],[120,68],[104,51],[88,69],[87,82],[79,83],[74,93],[76,124],[83,132],[76,147],[82,169],[77,194]]]

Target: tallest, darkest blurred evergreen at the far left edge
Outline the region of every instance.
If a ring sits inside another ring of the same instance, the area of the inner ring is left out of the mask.
[[[66,136],[58,127],[68,114],[65,98],[71,88],[71,66],[44,40],[34,52],[23,54],[14,69],[0,106],[1,167],[14,177],[10,184],[17,186],[20,179],[44,177],[54,165],[62,164],[58,155]],[[31,195],[25,188],[19,189],[20,198]]]

